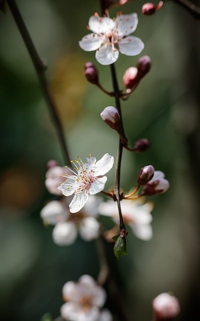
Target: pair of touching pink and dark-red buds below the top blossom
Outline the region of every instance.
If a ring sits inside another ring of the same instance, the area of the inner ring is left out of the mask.
[[[138,59],[136,67],[129,67],[123,75],[123,84],[126,94],[130,94],[139,84],[140,80],[149,72],[151,60],[148,56]]]

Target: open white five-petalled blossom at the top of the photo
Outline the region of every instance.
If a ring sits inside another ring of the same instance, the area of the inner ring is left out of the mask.
[[[118,15],[114,20],[94,14],[88,22],[88,29],[92,33],[84,36],[79,46],[84,51],[96,50],[95,57],[101,65],[114,63],[119,51],[127,56],[138,55],[144,44],[139,38],[129,36],[135,31],[137,23],[135,13]]]

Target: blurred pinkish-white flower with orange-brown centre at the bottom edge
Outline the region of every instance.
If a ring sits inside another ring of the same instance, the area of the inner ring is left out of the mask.
[[[111,321],[109,310],[102,309],[106,299],[105,290],[98,286],[90,275],[82,275],[78,281],[68,281],[62,288],[66,301],[60,314],[70,321]]]

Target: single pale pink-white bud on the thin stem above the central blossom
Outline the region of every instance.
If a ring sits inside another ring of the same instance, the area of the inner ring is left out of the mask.
[[[109,125],[112,129],[119,129],[119,112],[116,108],[112,106],[105,107],[103,111],[100,113],[100,116],[104,122]]]

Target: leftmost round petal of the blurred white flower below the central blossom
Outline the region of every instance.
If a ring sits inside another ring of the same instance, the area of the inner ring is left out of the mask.
[[[51,201],[40,212],[42,220],[48,224],[56,224],[59,221],[64,221],[68,217],[68,211],[59,201]]]

